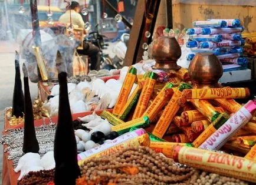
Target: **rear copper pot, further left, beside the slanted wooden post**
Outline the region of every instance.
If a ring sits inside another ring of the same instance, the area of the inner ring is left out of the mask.
[[[161,70],[179,70],[177,60],[181,56],[179,43],[174,37],[160,36],[153,45],[153,58],[156,60],[156,65],[153,69]]]

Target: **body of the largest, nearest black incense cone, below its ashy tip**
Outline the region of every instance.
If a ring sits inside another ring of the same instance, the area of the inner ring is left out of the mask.
[[[80,176],[80,169],[77,163],[77,143],[68,101],[67,73],[59,73],[58,82],[60,85],[60,101],[58,125],[54,140],[54,183],[56,185],[75,185],[76,179]]]

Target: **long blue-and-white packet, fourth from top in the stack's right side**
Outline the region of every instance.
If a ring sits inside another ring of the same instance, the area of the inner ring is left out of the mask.
[[[242,46],[245,44],[244,40],[241,41],[221,41],[221,42],[201,42],[199,47],[201,48],[220,48],[220,47],[233,47],[233,46]],[[192,47],[191,47],[192,48]]]

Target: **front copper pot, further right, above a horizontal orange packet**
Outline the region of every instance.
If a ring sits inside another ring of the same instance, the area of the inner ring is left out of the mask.
[[[223,69],[214,53],[198,53],[191,61],[188,73],[193,88],[216,88]]]

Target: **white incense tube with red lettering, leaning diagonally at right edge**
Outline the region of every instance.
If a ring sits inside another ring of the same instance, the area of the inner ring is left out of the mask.
[[[201,149],[220,149],[241,127],[250,121],[256,110],[256,100],[250,100],[234,113],[227,122],[216,130],[204,143]]]

